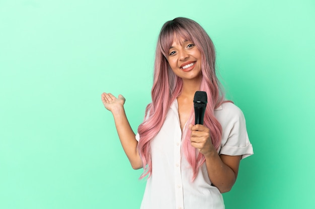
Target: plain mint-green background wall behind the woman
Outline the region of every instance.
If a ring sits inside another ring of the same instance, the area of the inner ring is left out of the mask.
[[[226,208],[315,208],[315,2],[0,1],[0,208],[139,208],[145,181],[102,92],[136,132],[162,25],[197,21],[255,154]],[[162,209],[162,208],[161,208]]]

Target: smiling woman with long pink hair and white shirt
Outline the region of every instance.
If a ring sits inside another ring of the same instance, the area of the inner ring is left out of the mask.
[[[204,125],[194,124],[196,91],[208,96]],[[253,148],[242,111],[220,92],[213,43],[196,22],[176,18],[162,27],[151,95],[134,134],[125,98],[102,94],[131,166],[147,176],[141,208],[224,208],[221,193],[231,189],[240,160]]]

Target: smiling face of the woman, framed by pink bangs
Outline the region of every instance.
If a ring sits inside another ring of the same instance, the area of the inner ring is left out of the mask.
[[[174,36],[167,60],[173,72],[183,81],[200,79],[201,53],[192,41]]]

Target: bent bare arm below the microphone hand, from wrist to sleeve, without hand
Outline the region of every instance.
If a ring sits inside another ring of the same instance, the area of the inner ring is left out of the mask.
[[[223,160],[227,159],[229,162],[233,161],[233,164],[235,164],[234,162],[240,160],[240,156],[220,156],[216,151],[205,156],[210,181],[221,193],[224,193],[232,188],[237,179],[238,170],[233,170],[230,166],[225,164],[222,157]]]

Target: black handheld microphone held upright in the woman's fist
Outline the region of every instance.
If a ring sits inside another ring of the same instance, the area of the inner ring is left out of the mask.
[[[207,106],[207,92],[205,91],[196,91],[194,96],[194,109],[195,109],[195,125],[203,125],[204,112]]]

